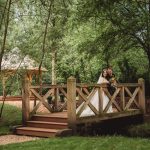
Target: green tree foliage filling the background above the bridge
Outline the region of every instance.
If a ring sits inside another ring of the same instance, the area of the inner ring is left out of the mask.
[[[4,6],[3,2],[6,1],[1,1],[1,6]],[[97,82],[102,68],[108,64],[113,66],[120,82],[137,82],[139,77],[150,80],[149,2],[16,1],[11,6],[6,51],[19,47],[23,56],[28,54],[41,62],[50,2],[43,58],[43,67],[48,72],[43,75],[44,83],[51,83],[51,53],[54,49],[58,83],[66,83],[71,75],[78,82]],[[1,12],[3,9],[0,7]]]

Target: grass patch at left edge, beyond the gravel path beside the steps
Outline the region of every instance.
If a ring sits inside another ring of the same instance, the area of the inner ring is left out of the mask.
[[[1,106],[2,105],[0,104],[0,108]],[[18,124],[21,124],[21,109],[5,104],[0,121],[0,135],[11,133],[9,128]]]

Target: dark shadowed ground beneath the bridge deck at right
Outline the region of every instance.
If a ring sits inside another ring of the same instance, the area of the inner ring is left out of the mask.
[[[86,125],[86,128],[81,125],[78,133],[83,136],[120,135],[148,138],[150,137],[150,123],[144,123],[143,116],[138,115],[93,123]]]

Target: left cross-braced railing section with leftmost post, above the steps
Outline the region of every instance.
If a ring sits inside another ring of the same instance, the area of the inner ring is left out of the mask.
[[[34,106],[30,101],[34,97]],[[67,107],[67,85],[32,86],[25,80],[22,90],[23,123],[31,118],[40,106],[43,105],[50,113],[63,111]]]

